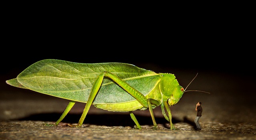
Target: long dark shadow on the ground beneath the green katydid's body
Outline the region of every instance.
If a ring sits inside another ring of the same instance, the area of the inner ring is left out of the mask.
[[[47,121],[56,122],[60,118],[60,113],[44,113],[44,114],[32,114],[30,116],[15,119],[15,120],[33,120],[33,121]],[[62,122],[72,124],[78,123],[81,114],[68,114]],[[153,125],[151,116],[136,116],[140,125]],[[184,117],[184,122],[194,126],[194,122],[188,120]],[[163,117],[155,117],[157,124],[163,124],[166,128],[170,128],[168,121]],[[182,122],[183,120],[178,120],[172,118],[172,123]],[[131,119],[129,114],[88,114],[84,120],[84,124],[94,124],[98,126],[130,126],[134,127],[135,123]]]

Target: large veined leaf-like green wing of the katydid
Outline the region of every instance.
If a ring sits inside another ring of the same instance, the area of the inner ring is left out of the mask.
[[[94,81],[100,73],[108,71],[147,95],[160,81],[160,75],[126,63],[74,63],[56,59],[38,61],[16,79],[6,83],[39,93],[86,103]],[[135,101],[119,85],[104,77],[94,104]]]

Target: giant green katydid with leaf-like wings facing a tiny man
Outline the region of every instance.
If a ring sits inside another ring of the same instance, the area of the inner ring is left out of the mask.
[[[132,111],[149,109],[156,129],[152,109],[161,105],[170,129],[175,130],[169,106],[178,103],[186,90],[169,73],[155,73],[127,63],[74,63],[56,59],[38,61],[6,83],[70,100],[60,118],[50,126],[58,126],[76,102],[86,103],[78,124],[71,127],[81,127],[94,105],[108,111],[130,112],[138,129],[141,126]]]

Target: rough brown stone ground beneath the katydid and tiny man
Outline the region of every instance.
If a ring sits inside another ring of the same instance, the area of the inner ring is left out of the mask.
[[[194,73],[177,73],[180,85],[188,85]],[[214,76],[213,76],[214,75]],[[42,126],[54,123],[68,105],[68,100],[43,95],[5,83],[14,77],[1,77],[0,139],[1,140],[255,140],[256,103],[255,82],[248,77],[234,77],[222,73],[199,73],[188,89],[208,91],[187,92],[180,102],[171,106],[173,122],[180,130],[169,130],[160,106],[154,109],[158,130],[152,130],[148,110],[134,111],[142,130],[134,129],[134,122],[127,112],[108,112],[91,107],[81,128],[76,124],[84,103],[76,103],[59,126]],[[246,83],[246,84],[241,84]],[[186,87],[186,86],[184,86]],[[202,130],[194,130],[195,105],[202,102],[203,116],[199,122]]]

